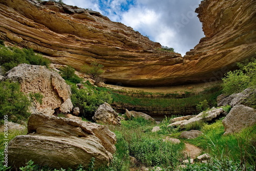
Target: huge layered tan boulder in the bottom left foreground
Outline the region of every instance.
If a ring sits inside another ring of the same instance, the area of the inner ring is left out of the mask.
[[[72,119],[32,114],[28,135],[9,142],[9,162],[15,167],[28,160],[54,168],[108,164],[115,153],[116,136],[107,126]]]

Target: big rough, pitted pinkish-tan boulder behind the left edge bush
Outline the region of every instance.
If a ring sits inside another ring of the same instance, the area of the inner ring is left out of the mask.
[[[59,110],[70,113],[73,104],[70,100],[71,90],[65,80],[56,72],[45,66],[34,66],[22,63],[5,74],[4,80],[18,81],[20,90],[25,94],[40,93],[42,103],[34,102],[34,113],[44,109]]]

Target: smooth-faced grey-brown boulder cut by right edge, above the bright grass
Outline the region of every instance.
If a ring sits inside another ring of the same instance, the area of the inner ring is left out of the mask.
[[[241,131],[256,123],[256,110],[242,104],[234,106],[222,121],[224,135]]]

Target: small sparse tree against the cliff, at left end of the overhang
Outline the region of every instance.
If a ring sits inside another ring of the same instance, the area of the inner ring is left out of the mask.
[[[104,66],[97,63],[97,62],[92,62],[90,67],[84,66],[82,71],[88,75],[90,75],[93,79],[97,79],[100,77],[100,75],[104,72],[102,70]]]

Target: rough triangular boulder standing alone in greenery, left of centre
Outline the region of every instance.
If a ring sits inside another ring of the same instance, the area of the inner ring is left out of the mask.
[[[99,106],[97,111],[93,116],[93,120],[97,123],[104,123],[104,124],[112,124],[118,125],[120,123],[120,118],[116,111],[111,107],[109,103],[104,103]]]

